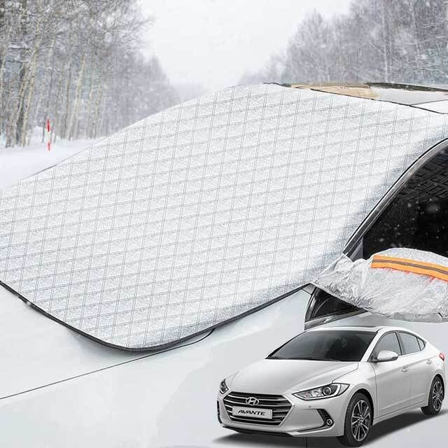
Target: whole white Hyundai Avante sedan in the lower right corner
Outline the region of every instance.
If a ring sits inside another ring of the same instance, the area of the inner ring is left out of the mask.
[[[405,328],[308,330],[224,379],[218,420],[241,433],[337,436],[358,447],[374,423],[418,407],[440,412],[444,358]]]

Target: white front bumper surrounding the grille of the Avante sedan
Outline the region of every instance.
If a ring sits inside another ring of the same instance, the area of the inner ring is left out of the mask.
[[[283,393],[290,404],[290,410],[279,425],[235,421],[224,399],[232,391],[218,395],[218,420],[221,426],[248,433],[269,433],[293,437],[336,437],[344,434],[344,416],[351,398],[351,388],[337,397],[323,400],[301,400],[290,393]],[[256,394],[255,394],[256,395]],[[328,421],[332,420],[332,423]]]

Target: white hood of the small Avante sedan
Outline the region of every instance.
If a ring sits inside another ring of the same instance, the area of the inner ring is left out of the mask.
[[[264,359],[240,370],[228,387],[248,393],[295,392],[331,383],[357,368],[358,363],[342,361]]]

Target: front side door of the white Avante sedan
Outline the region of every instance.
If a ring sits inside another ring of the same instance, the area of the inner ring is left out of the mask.
[[[372,363],[377,384],[378,416],[391,414],[409,405],[411,376],[405,356],[402,356],[396,332],[388,332],[379,339],[372,351],[372,360],[381,350],[395,351],[398,359],[386,363]]]

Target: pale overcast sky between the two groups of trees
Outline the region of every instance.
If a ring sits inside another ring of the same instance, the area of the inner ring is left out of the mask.
[[[172,83],[207,90],[238,82],[273,52],[283,50],[297,24],[314,8],[344,13],[350,0],[141,0],[155,24],[145,39]]]

